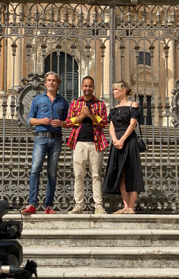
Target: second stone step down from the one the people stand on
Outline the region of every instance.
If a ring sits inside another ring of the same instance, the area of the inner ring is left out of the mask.
[[[33,239],[33,242],[32,242]],[[179,247],[179,230],[23,230],[23,247]]]

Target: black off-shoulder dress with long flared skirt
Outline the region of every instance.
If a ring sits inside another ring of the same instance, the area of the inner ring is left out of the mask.
[[[110,110],[108,121],[114,125],[116,137],[119,140],[124,135],[130,124],[131,118],[140,121],[138,108],[124,106],[119,113],[118,107]],[[127,137],[122,149],[117,149],[111,144],[106,172],[103,180],[102,192],[121,194],[122,170],[125,172],[126,192],[143,192],[144,182],[140,153],[135,130]]]

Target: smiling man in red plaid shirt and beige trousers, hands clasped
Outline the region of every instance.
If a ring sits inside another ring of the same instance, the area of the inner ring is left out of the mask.
[[[85,197],[85,167],[89,160],[93,184],[95,214],[106,214],[102,200],[103,149],[108,146],[103,128],[108,124],[105,104],[93,95],[94,80],[86,76],[82,80],[83,96],[73,101],[67,116],[67,128],[72,127],[67,145],[73,149],[73,171],[75,174],[75,207],[69,214],[82,213]]]

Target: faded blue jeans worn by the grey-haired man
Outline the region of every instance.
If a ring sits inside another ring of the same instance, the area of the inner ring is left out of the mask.
[[[30,171],[29,204],[36,205],[39,192],[40,172],[47,154],[47,194],[45,207],[53,206],[53,198],[56,188],[57,164],[62,149],[62,138],[48,138],[36,136],[32,154],[32,167]]]

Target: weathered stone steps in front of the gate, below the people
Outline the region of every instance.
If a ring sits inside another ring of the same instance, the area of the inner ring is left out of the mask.
[[[39,279],[179,278],[179,215],[34,214],[23,223],[23,264],[35,260]]]

